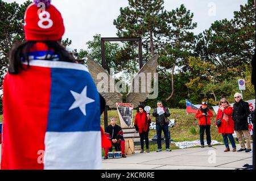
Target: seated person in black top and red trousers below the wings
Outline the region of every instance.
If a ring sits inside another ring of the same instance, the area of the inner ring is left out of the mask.
[[[104,159],[108,159],[108,152],[112,151],[113,146],[115,146],[115,151],[122,151],[122,157],[126,158],[125,155],[125,139],[123,139],[123,131],[119,125],[115,124],[115,118],[110,118],[110,125],[106,127],[105,130],[106,136],[112,142],[112,147],[105,147]]]

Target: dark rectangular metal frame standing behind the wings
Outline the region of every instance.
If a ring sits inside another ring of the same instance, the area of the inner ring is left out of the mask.
[[[105,60],[105,41],[138,41],[139,48],[139,69],[143,66],[142,61],[142,39],[141,37],[102,37],[101,38],[101,65],[102,68],[106,69],[106,60]],[[104,127],[108,126],[108,106],[104,110]]]

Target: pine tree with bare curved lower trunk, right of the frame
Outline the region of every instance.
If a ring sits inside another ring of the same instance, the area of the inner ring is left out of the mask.
[[[184,5],[168,12],[168,24],[171,24],[171,30],[166,34],[166,43],[161,50],[159,64],[164,70],[171,70],[171,94],[168,95],[167,101],[172,98],[175,92],[174,73],[175,68],[180,68],[181,72],[185,72],[188,68],[188,56],[192,54],[192,45],[195,35],[191,30],[196,27],[196,23],[192,23],[193,13],[187,10]]]

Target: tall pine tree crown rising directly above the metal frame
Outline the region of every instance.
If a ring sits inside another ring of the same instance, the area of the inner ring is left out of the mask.
[[[119,37],[142,37],[144,57],[154,56],[163,35],[170,31],[163,0],[128,0],[129,6],[120,9],[114,20]],[[130,44],[129,44],[130,45]]]

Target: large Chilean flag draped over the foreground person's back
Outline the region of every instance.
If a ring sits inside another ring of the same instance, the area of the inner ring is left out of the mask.
[[[1,169],[101,169],[100,96],[84,65],[7,73],[3,110]]]

